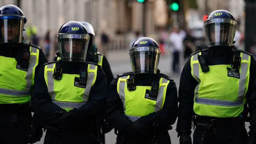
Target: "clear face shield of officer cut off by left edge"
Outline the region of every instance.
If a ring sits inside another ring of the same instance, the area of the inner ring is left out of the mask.
[[[22,42],[22,34],[24,30],[23,20],[1,19],[0,27],[1,27],[0,43]]]

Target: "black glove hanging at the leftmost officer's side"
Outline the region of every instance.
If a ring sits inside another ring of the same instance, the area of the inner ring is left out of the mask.
[[[36,128],[32,126],[30,129],[30,134],[28,136],[28,143],[34,144],[36,142],[39,142],[43,136],[43,130],[42,128]]]

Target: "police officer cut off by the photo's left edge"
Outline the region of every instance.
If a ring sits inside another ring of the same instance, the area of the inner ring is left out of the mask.
[[[0,7],[1,144],[34,143],[42,137],[42,127],[34,123],[31,128],[30,92],[34,77],[48,61],[39,46],[22,42],[26,21],[17,6]]]

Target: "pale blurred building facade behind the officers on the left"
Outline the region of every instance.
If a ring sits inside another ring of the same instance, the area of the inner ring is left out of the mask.
[[[155,20],[155,3],[164,0],[148,1],[146,31],[152,34],[157,24],[163,24],[159,22],[159,18],[158,21]],[[21,2],[20,8],[28,19],[26,26],[35,25],[38,34],[42,36],[48,29],[57,32],[64,22],[71,20],[86,20],[94,26],[96,32],[107,28],[112,34],[123,34],[142,29],[142,4],[134,0],[22,0]],[[4,4],[16,4],[16,0],[0,0],[0,5]],[[163,16],[164,14],[159,14],[159,17]]]

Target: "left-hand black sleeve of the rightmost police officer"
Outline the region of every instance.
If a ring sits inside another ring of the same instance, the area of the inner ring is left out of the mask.
[[[194,90],[199,84],[191,74],[190,58],[187,60],[180,76],[178,122],[176,127],[177,132],[188,132],[189,134],[191,134],[191,121],[194,114]]]

